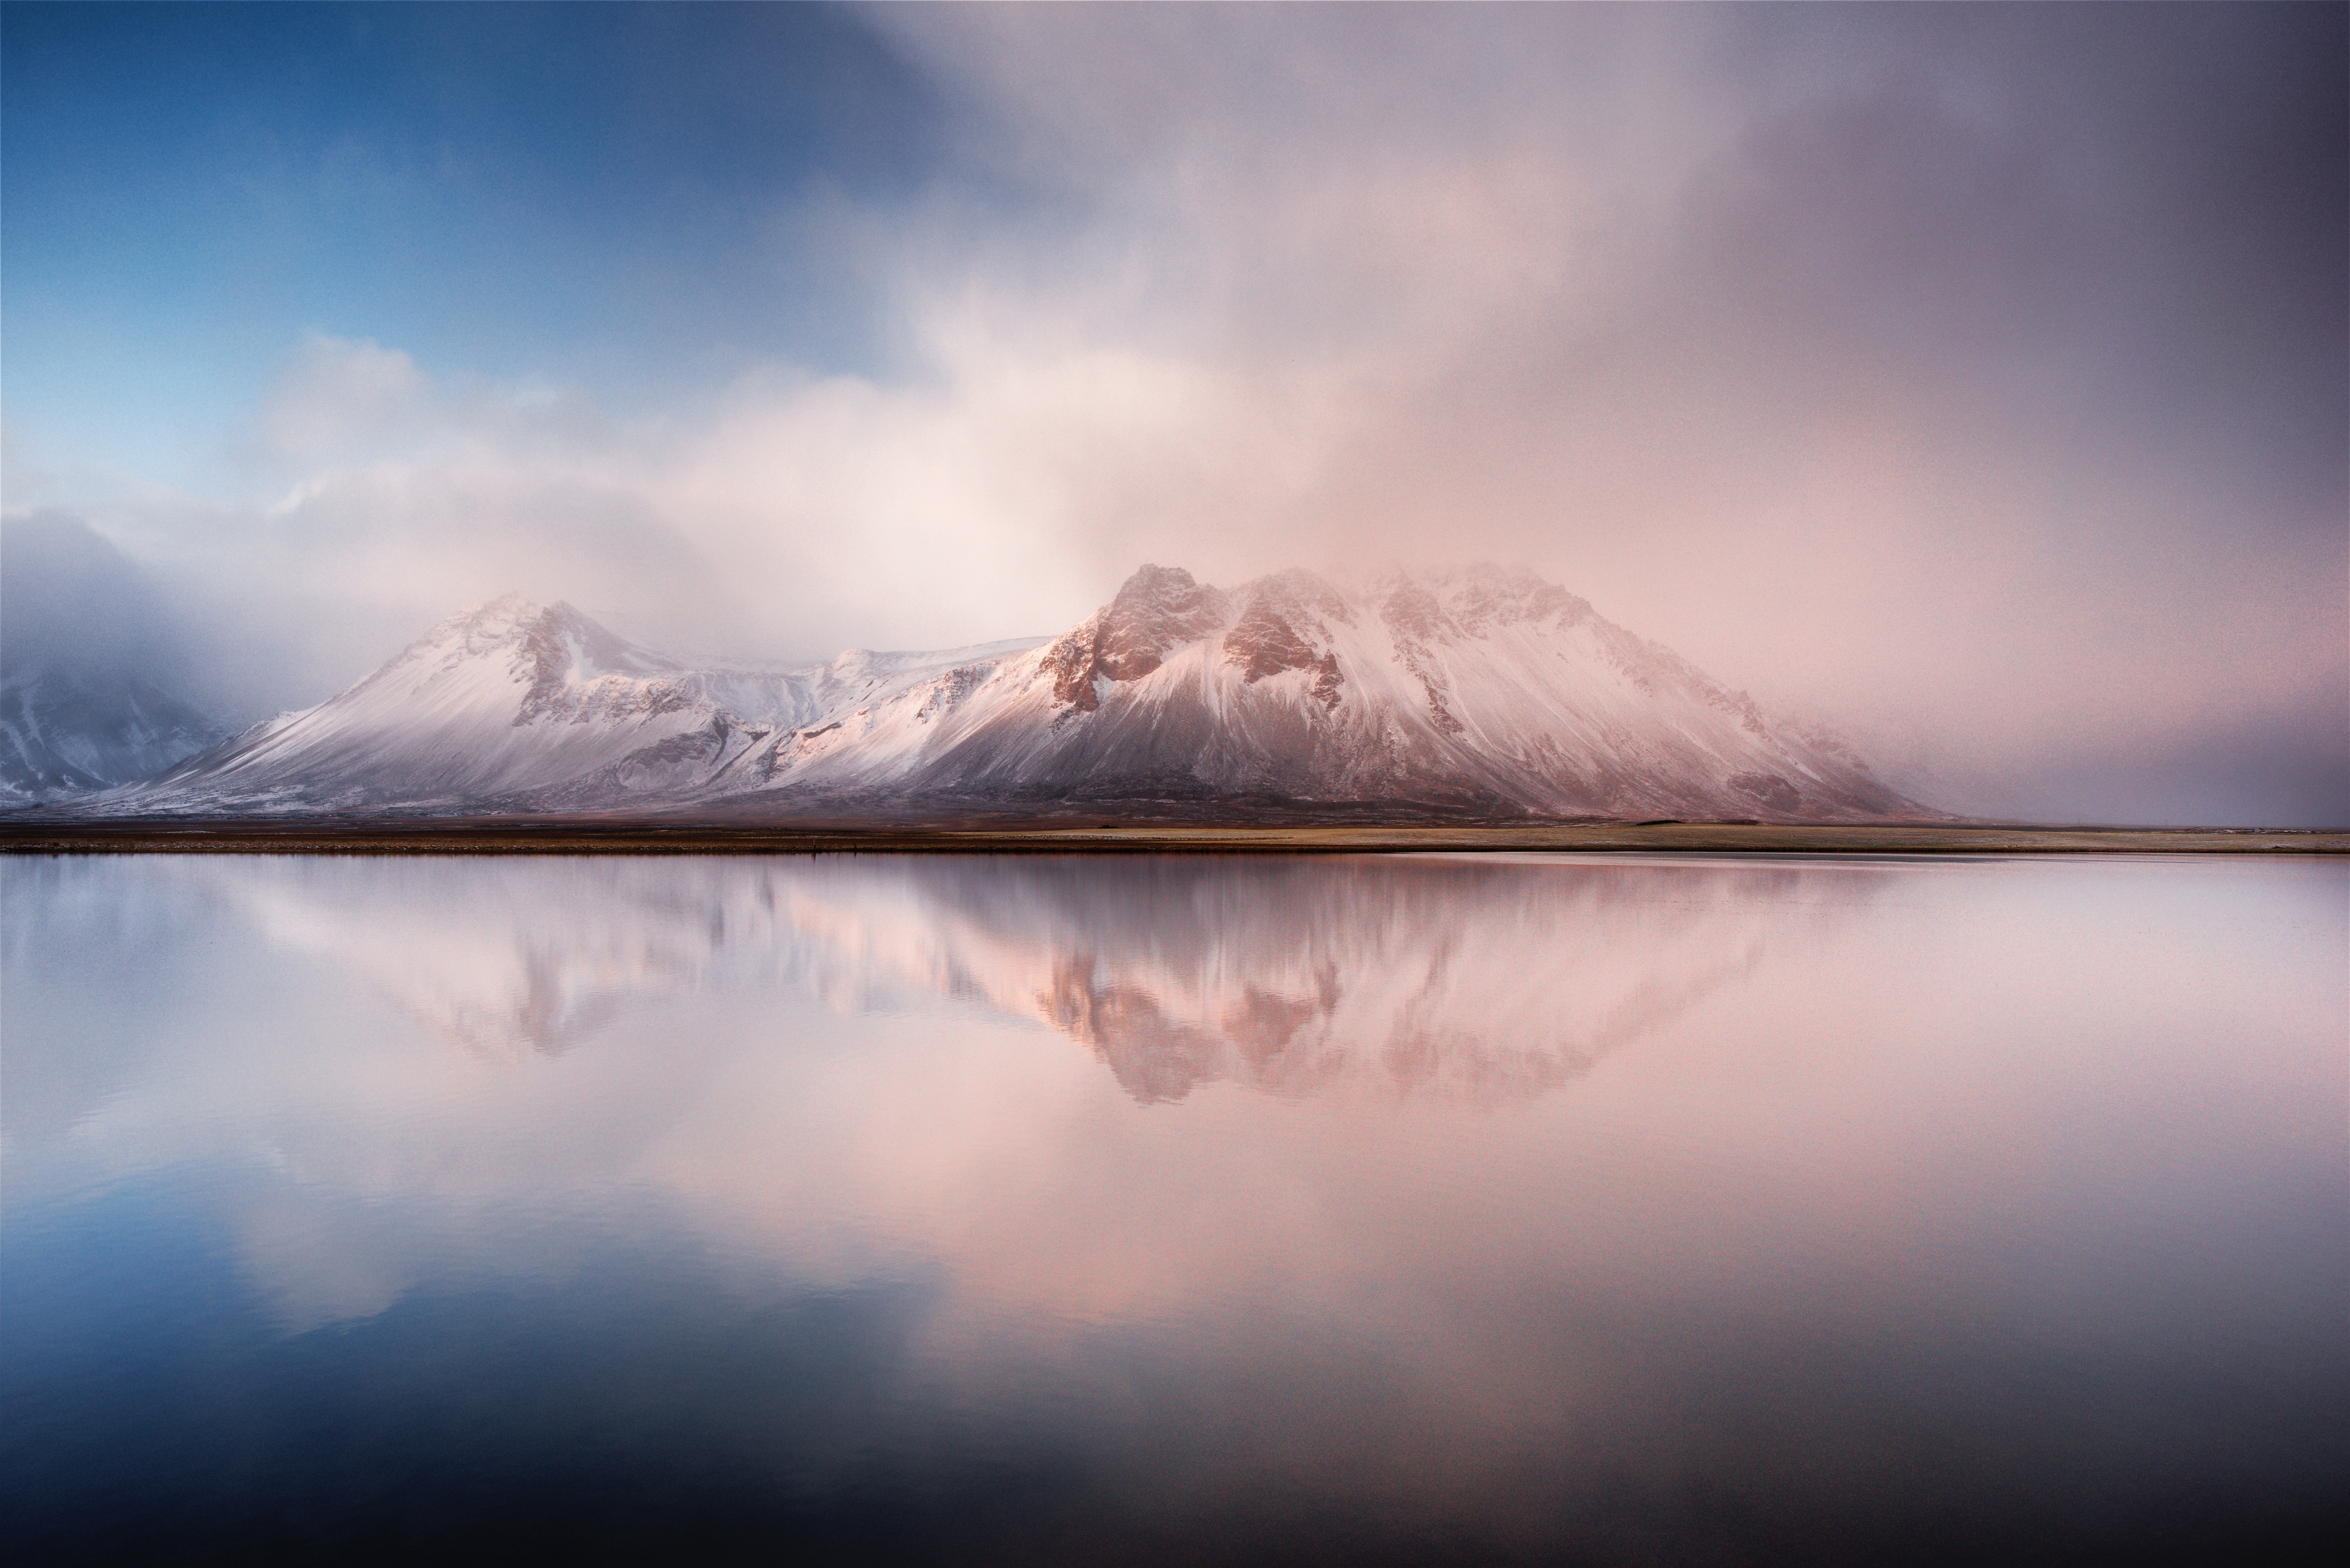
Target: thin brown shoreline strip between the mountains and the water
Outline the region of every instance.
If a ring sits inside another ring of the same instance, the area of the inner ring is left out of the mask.
[[[792,825],[613,820],[0,820],[0,853],[258,856],[806,856],[806,853],[2350,853],[2350,832],[2230,827],[2000,827],[1753,823],[1567,825]]]

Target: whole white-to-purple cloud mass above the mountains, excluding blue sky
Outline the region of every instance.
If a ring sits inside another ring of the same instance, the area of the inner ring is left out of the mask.
[[[851,24],[916,174],[712,200],[858,353],[703,329],[653,397],[350,308],[190,400],[195,463],[12,374],[7,510],[172,583],[247,717],[508,590],[801,661],[1144,559],[1504,559],[1958,811],[2343,820],[2343,9]],[[787,282],[728,263],[745,320]]]

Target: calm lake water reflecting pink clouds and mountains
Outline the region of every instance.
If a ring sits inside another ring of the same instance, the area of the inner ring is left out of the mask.
[[[14,1561],[2341,1544],[2341,863],[0,879]]]

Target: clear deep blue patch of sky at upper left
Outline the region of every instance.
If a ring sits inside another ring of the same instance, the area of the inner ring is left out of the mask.
[[[623,409],[877,369],[822,212],[907,200],[947,134],[797,5],[9,5],[0,68],[7,416],[172,468],[306,334]]]

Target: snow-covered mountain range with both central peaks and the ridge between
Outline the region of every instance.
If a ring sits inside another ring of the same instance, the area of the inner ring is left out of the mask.
[[[1528,571],[1142,567],[1060,637],[693,670],[566,604],[454,616],[108,811],[1415,806],[1934,816]]]

